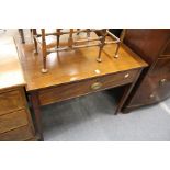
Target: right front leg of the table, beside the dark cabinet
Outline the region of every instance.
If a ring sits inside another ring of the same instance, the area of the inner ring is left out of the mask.
[[[118,112],[121,112],[121,110],[122,110],[123,105],[125,104],[125,102],[126,102],[126,100],[127,100],[129,93],[132,92],[134,86],[136,84],[136,81],[138,80],[138,77],[140,76],[141,71],[143,71],[143,69],[140,69],[140,70],[138,71],[138,73],[137,73],[137,76],[136,76],[136,78],[135,78],[135,80],[134,80],[133,83],[126,86],[126,89],[125,89],[125,91],[124,91],[124,94],[123,94],[123,97],[121,98],[121,100],[120,100],[120,102],[118,102],[118,105],[117,105],[117,107],[116,107],[115,114],[118,114]]]

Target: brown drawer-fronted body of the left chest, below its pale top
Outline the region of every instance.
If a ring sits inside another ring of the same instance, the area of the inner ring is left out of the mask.
[[[34,127],[23,88],[0,93],[0,140],[29,140]]]

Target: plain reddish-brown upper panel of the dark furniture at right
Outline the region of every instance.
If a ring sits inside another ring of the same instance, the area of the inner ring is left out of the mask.
[[[170,29],[128,29],[124,43],[147,63],[152,64],[170,39]]]

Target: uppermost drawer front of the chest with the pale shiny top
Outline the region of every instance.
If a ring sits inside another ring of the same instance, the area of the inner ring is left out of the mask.
[[[24,106],[22,95],[22,89],[0,93],[0,115],[22,109]]]

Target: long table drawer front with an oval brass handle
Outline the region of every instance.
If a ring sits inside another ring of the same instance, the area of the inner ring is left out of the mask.
[[[41,105],[133,82],[138,70],[129,70],[39,91]]]

